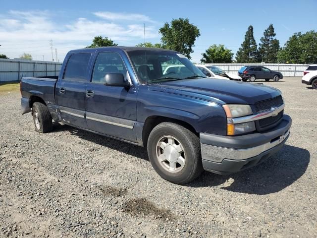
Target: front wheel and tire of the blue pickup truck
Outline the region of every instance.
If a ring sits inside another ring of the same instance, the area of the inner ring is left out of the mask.
[[[200,141],[189,129],[162,122],[148,138],[150,162],[162,179],[185,184],[203,172]]]

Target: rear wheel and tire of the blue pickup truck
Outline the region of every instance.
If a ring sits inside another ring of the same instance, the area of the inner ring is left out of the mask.
[[[32,107],[35,131],[46,133],[53,129],[52,117],[46,105],[35,102]]]

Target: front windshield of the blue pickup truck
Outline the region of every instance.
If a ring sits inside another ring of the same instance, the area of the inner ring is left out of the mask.
[[[180,53],[151,50],[127,53],[142,83],[206,78],[204,73]]]

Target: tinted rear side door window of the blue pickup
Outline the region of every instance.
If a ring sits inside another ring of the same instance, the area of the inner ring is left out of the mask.
[[[72,54],[66,64],[63,80],[86,82],[90,57],[90,53]]]

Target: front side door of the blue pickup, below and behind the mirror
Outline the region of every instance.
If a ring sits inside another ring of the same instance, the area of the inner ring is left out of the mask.
[[[105,85],[107,73],[129,74],[118,53],[100,52],[97,55],[91,82],[86,87],[86,119],[90,130],[136,142],[137,90]],[[130,80],[129,80],[130,81]]]

